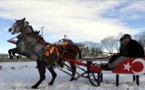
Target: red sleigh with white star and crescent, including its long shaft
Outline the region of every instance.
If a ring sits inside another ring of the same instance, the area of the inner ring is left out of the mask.
[[[145,67],[145,58],[130,58],[123,62],[121,62],[117,67],[110,71],[104,71],[100,68],[100,65],[97,63],[93,63],[91,60],[86,60],[86,63],[79,62],[77,60],[72,60],[66,57],[61,57],[63,60],[75,63],[79,66],[86,67],[86,71],[81,68],[84,72],[79,74],[78,77],[88,78],[90,83],[93,86],[100,86],[100,83],[103,81],[103,74],[110,73],[116,74],[116,86],[119,85],[119,74],[130,74],[133,75],[133,81],[136,80],[136,84],[139,86],[139,75],[144,75],[144,67]],[[80,67],[79,67],[80,68]],[[78,78],[77,77],[77,78]]]

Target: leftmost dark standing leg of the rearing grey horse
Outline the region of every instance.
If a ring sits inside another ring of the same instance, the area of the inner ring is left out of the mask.
[[[42,81],[45,80],[45,72],[46,72],[45,63],[43,63],[40,60],[37,60],[37,67],[40,74],[40,79],[35,85],[32,86],[32,88],[34,89],[36,89],[42,83]]]

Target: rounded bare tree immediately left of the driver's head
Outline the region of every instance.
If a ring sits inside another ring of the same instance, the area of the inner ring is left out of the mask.
[[[101,44],[104,46],[109,53],[113,53],[113,51],[118,51],[118,38],[114,36],[109,36],[101,40]]]

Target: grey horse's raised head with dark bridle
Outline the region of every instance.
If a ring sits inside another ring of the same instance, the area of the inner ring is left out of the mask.
[[[25,21],[25,18],[21,19],[21,20],[16,20],[16,22],[13,24],[13,26],[11,26],[9,28],[9,32],[12,32],[12,34],[16,34],[16,33],[25,33],[25,32],[29,32],[31,33],[32,27],[27,29],[26,27],[30,27],[29,23],[27,21]],[[27,29],[27,30],[25,30]]]

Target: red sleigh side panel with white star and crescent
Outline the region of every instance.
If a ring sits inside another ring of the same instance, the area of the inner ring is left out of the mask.
[[[127,59],[112,70],[112,73],[124,74],[145,74],[145,58],[130,58]]]

